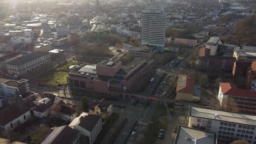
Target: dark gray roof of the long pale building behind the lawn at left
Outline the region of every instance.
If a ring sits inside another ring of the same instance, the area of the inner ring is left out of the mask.
[[[32,52],[26,56],[22,56],[20,58],[16,58],[14,59],[13,61],[10,61],[8,62],[7,64],[10,64],[10,65],[23,65],[27,62],[31,62],[33,61],[34,59],[37,59],[39,57],[42,57],[42,56],[45,56],[45,55],[48,55],[48,52],[43,52],[43,51],[36,51],[36,52]]]

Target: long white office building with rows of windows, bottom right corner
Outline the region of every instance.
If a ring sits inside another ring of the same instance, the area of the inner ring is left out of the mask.
[[[188,127],[216,133],[218,144],[235,140],[256,143],[255,115],[191,106]]]

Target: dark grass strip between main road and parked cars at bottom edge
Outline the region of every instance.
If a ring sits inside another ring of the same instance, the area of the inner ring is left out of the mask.
[[[158,140],[158,133],[160,129],[166,129],[168,126],[167,121],[155,121],[154,123],[150,123],[147,129],[144,131],[143,135],[139,137],[139,143],[148,144],[155,143]]]

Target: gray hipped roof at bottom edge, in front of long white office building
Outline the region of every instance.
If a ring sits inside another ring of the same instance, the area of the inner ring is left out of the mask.
[[[174,144],[216,144],[216,134],[179,125]]]

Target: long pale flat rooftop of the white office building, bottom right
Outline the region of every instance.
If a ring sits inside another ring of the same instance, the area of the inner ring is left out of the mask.
[[[228,112],[222,110],[207,109],[201,107],[189,107],[189,117],[213,119],[216,121],[231,122],[237,124],[256,125],[256,116],[245,113]]]

